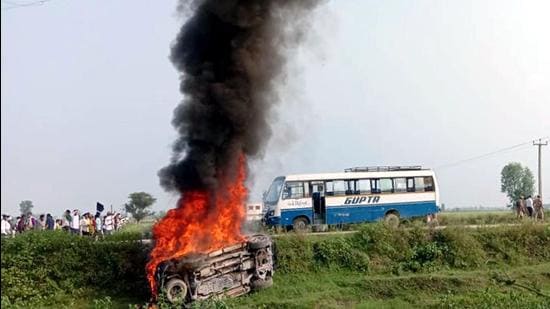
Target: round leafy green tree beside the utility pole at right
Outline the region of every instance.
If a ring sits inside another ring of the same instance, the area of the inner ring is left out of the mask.
[[[535,177],[528,167],[520,163],[508,163],[500,172],[500,191],[506,193],[512,205],[515,205],[520,196],[533,195]]]

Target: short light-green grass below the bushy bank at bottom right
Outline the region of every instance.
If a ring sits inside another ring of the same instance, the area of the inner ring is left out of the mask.
[[[514,286],[498,284],[499,270],[444,271],[437,274],[369,276],[358,272],[285,274],[275,277],[272,288],[226,301],[239,308],[402,308],[483,305],[485,298],[516,293],[527,304],[550,305],[550,299]],[[550,292],[550,264],[516,267],[508,275],[521,283]]]

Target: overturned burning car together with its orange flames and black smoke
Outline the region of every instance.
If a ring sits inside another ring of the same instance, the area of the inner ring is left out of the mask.
[[[264,154],[286,56],[318,2],[178,1],[190,13],[170,52],[183,98],[172,156],[158,175],[179,200],[153,227],[145,266],[153,300],[189,303],[271,285],[271,239],[243,235],[248,162]]]

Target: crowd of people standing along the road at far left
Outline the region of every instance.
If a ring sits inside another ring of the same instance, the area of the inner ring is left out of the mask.
[[[107,212],[101,215],[96,212],[80,214],[78,209],[67,209],[61,218],[54,219],[51,214],[41,214],[38,219],[31,213],[22,214],[16,218],[2,215],[2,236],[15,235],[26,231],[63,230],[68,233],[101,237],[119,230],[127,221],[120,213]]]

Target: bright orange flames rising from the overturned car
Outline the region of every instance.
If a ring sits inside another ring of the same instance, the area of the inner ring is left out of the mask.
[[[218,190],[182,193],[178,207],[168,211],[153,227],[155,247],[147,263],[147,279],[153,297],[157,296],[155,272],[167,260],[189,253],[207,253],[243,241],[241,225],[245,217],[248,191],[245,157],[241,155],[234,179],[221,176]]]

